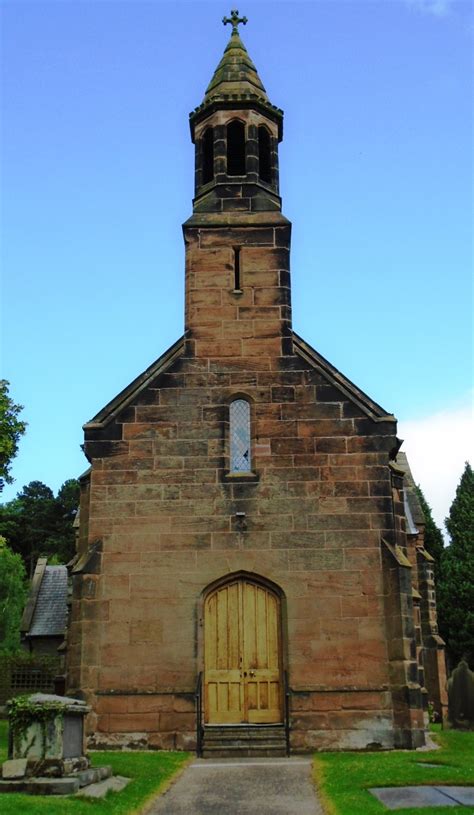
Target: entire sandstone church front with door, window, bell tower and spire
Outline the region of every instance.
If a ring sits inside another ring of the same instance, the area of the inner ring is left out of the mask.
[[[430,556],[394,416],[293,331],[283,113],[235,19],[190,123],[184,335],[84,428],[68,692],[95,745],[414,748]]]

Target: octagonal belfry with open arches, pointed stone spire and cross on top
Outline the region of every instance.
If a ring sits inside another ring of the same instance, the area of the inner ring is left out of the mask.
[[[240,39],[238,25],[246,22],[236,9],[224,17],[224,25],[232,25],[230,40],[202,103],[189,116],[196,146],[195,214],[281,212],[283,111],[269,101]]]

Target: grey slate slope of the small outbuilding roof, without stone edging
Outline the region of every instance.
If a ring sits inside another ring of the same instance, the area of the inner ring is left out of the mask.
[[[38,592],[30,637],[53,637],[64,634],[67,621],[67,568],[46,566]]]

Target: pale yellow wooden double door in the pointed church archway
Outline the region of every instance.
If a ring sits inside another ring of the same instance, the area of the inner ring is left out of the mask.
[[[280,599],[239,579],[215,589],[204,604],[204,721],[281,722]]]

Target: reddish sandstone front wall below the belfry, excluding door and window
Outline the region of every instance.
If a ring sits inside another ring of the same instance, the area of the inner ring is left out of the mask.
[[[70,690],[94,706],[96,744],[191,746],[203,592],[243,570],[285,598],[293,748],[393,746],[381,538],[403,537],[395,421],[380,409],[371,417],[334,369],[295,351],[287,222],[187,229],[186,243],[183,355],[86,430],[84,517],[99,543],[75,576]],[[242,293],[232,290],[235,243]],[[229,472],[236,397],[251,405],[250,474]],[[405,651],[400,686],[416,667]]]

